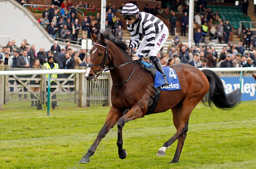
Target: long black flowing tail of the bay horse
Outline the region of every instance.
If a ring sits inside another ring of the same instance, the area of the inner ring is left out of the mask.
[[[213,103],[219,109],[230,110],[241,103],[241,92],[239,89],[226,94],[223,83],[215,72],[208,69],[203,69],[202,72],[209,82],[209,90],[202,100],[205,106],[212,107]]]

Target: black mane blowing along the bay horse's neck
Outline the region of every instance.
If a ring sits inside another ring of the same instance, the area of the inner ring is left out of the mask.
[[[101,30],[100,33],[96,34],[96,36],[98,37],[98,42],[100,42],[104,46],[107,45],[105,42],[102,42],[100,39],[100,34],[103,34],[106,39],[113,42],[116,46],[121,48],[123,51],[127,50],[128,46],[127,46],[126,42],[124,42],[123,40],[120,40],[120,39],[116,39],[115,36],[111,33],[111,31],[112,30],[108,28],[105,30]]]

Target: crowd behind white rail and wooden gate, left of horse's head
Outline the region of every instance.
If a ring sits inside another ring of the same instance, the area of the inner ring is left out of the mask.
[[[80,49],[76,51],[70,46],[70,42],[67,42],[66,47],[60,48],[57,41],[53,42],[50,49],[45,50],[40,48],[37,52],[35,45],[31,45],[26,39],[23,39],[20,47],[16,45],[16,41],[12,40],[0,49],[0,64],[9,65],[9,68],[37,68],[41,69],[44,66],[46,69],[74,69],[75,66],[88,66],[90,62],[90,54],[88,50]],[[46,75],[48,76],[48,75]],[[57,78],[57,75],[52,75]],[[59,76],[59,75],[58,75]],[[65,75],[60,75],[60,78],[67,78]],[[25,82],[25,81],[24,81]],[[11,81],[13,84],[14,81]],[[17,84],[20,84],[16,81]],[[31,80],[30,84],[38,84],[37,80]],[[73,83],[73,82],[67,82]],[[51,82],[51,86],[57,85],[54,81]],[[72,84],[71,84],[72,85]],[[13,91],[13,87],[10,88]],[[38,87],[31,87],[31,90],[38,92]],[[68,89],[69,90],[69,89]],[[70,91],[73,89],[70,88]],[[24,91],[27,92],[27,88],[24,87]],[[21,94],[18,96],[21,99]],[[31,99],[34,95],[31,94]],[[27,94],[24,94],[24,99],[30,99]],[[56,95],[52,96],[52,99],[56,99]],[[37,106],[37,109],[42,109],[38,102],[32,101],[31,106]],[[52,108],[59,106],[56,101],[52,101]]]

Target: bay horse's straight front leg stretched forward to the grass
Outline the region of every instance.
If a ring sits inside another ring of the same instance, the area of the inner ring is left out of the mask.
[[[91,157],[94,154],[101,139],[105,137],[105,135],[108,133],[109,129],[112,128],[116,124],[117,120],[121,116],[123,116],[123,114],[120,112],[120,109],[116,109],[115,107],[112,106],[108,112],[106,122],[103,125],[103,127],[101,128],[96,140],[91,145],[91,147],[89,148],[87,153],[84,155],[84,157],[82,157],[82,159],[79,161],[79,163],[88,163],[90,161],[89,157]]]

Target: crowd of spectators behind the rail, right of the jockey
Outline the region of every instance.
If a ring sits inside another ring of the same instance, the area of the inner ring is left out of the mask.
[[[179,37],[176,36],[172,40],[172,44],[168,47],[168,54],[161,54],[161,50],[158,53],[157,56],[161,63],[163,63],[163,57],[166,57],[168,65],[174,59],[174,63],[187,63],[197,68],[255,67],[256,65],[255,47],[251,45],[249,50],[246,50],[243,42],[239,42],[237,45],[228,44],[222,48],[221,53],[218,53],[214,46],[191,46],[189,48],[188,43],[178,42],[177,44],[176,39]]]

